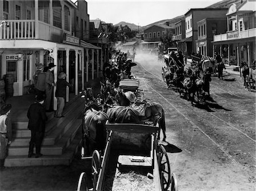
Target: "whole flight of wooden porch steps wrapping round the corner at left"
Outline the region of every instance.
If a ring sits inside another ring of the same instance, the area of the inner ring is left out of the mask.
[[[6,167],[31,165],[69,165],[77,152],[82,139],[82,109],[84,100],[76,96],[66,103],[63,118],[53,117],[53,112],[47,113],[48,121],[42,143],[40,158],[28,158],[28,146],[31,131],[27,129],[27,122],[14,122],[14,140],[9,146]],[[35,153],[35,148],[34,148]]]

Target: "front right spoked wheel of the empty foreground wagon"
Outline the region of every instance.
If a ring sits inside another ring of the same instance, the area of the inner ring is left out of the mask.
[[[171,183],[171,168],[166,149],[163,147],[163,145],[159,146],[158,166],[162,188],[163,190],[167,190]]]

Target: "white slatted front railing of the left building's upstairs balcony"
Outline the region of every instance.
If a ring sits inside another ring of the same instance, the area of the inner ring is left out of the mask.
[[[0,40],[35,39],[35,20],[6,20],[6,22],[0,28]]]

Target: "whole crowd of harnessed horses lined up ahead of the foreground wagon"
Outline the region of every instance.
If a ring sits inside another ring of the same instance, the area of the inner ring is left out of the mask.
[[[132,79],[131,67],[137,64],[127,60],[127,54],[115,52],[115,60],[105,65],[104,82],[97,96],[92,88],[81,92],[85,100],[82,117],[81,155],[91,155],[94,150],[104,152],[106,143],[106,121],[110,123],[133,123],[159,125],[163,141],[166,139],[166,124],[162,105],[140,100],[132,91],[119,88],[123,79]]]

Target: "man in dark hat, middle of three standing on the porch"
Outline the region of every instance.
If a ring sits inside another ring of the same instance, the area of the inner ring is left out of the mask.
[[[53,86],[56,86],[56,84],[54,83],[54,77],[52,74],[52,71],[54,70],[54,67],[56,65],[54,65],[54,63],[49,63],[48,65],[48,70],[46,71],[46,112],[52,112],[53,109],[51,109],[51,103],[52,103],[52,99],[53,99]]]

